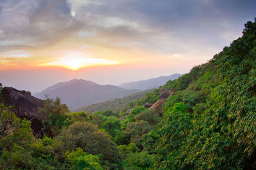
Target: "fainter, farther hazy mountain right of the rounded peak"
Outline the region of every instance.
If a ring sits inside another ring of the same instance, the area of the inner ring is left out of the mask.
[[[161,76],[157,78],[150,78],[148,80],[123,83],[122,85],[118,85],[118,87],[122,87],[124,89],[138,89],[138,90],[155,89],[161,85],[164,85],[169,80],[175,80],[179,78],[179,76],[182,76],[182,74],[172,74],[170,76]]]

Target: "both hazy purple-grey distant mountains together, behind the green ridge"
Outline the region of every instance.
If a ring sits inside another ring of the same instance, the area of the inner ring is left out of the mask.
[[[169,80],[179,78],[179,76],[182,76],[182,74],[172,74],[171,76],[124,83],[119,87],[99,85],[93,81],[74,79],[52,85],[42,92],[36,92],[33,96],[39,99],[45,99],[45,95],[51,98],[60,97],[61,101],[67,104],[68,108],[73,111],[90,104],[122,98],[142,90],[158,88]]]

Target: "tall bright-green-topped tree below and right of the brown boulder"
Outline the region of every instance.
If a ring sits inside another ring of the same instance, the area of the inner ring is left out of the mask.
[[[189,131],[193,127],[192,117],[187,110],[184,103],[176,103],[172,108],[169,108],[168,113],[164,114],[163,125],[159,129],[161,139],[156,150],[156,165],[159,169],[182,167],[184,162],[180,159],[182,144],[185,143]]]

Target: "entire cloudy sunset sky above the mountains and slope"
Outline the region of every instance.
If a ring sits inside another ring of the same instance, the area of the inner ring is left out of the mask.
[[[242,0],[0,0],[0,82],[40,92],[188,73],[242,36]]]

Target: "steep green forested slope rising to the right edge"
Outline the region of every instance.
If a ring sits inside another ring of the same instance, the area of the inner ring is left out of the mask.
[[[162,87],[174,95],[153,130],[136,130],[149,128],[143,123],[149,114],[141,107],[122,120],[124,134],[140,134],[136,146],[156,156],[154,169],[255,169],[256,22],[244,26],[242,38]],[[138,105],[152,101],[159,90]]]

